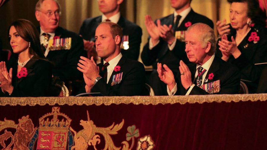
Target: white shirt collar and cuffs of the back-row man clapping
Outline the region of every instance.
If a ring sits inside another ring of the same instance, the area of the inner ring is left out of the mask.
[[[181,25],[181,23],[184,21],[185,17],[189,14],[190,11],[191,11],[191,7],[188,7],[187,9],[183,10],[179,14],[177,14],[177,12],[174,10],[174,13],[173,13],[174,14],[174,20],[173,20],[174,24],[176,22],[176,16],[180,15],[181,19],[179,20],[179,24],[178,24],[178,27],[179,27]],[[176,40],[177,39],[175,38],[174,42],[171,45],[168,44],[169,50],[173,50],[174,49],[174,46],[176,44]],[[153,45],[151,39],[149,39],[149,49],[152,50],[152,48],[155,47],[156,45],[158,45],[158,43],[159,43],[159,40],[155,45]]]

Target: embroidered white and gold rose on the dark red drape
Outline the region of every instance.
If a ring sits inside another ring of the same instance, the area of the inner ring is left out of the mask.
[[[136,150],[151,150],[154,146],[154,142],[152,141],[150,135],[146,135],[138,139]]]

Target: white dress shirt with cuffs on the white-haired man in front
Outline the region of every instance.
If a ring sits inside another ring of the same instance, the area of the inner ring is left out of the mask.
[[[210,66],[211,66],[211,64],[212,64],[212,62],[213,62],[213,60],[214,60],[214,57],[215,57],[215,53],[212,55],[212,57],[211,58],[209,58],[209,60],[208,61],[206,61],[206,63],[204,63],[201,67],[202,68],[204,68],[204,69],[206,69],[206,72],[203,74],[203,76],[202,76],[202,82],[201,82],[201,85],[203,85],[204,84],[204,79],[206,79],[206,75],[207,75],[207,73],[208,73],[208,71],[209,71],[209,68],[210,68]],[[197,71],[197,69],[198,69],[198,67],[199,67],[200,65],[196,65],[196,73],[195,73],[195,78],[194,78],[194,81],[193,81],[193,83],[195,82],[195,79],[196,79],[196,77],[198,76],[198,71]],[[190,92],[191,92],[191,90],[193,89],[193,87],[195,86],[195,84],[193,84],[190,88],[189,88],[189,90],[186,92],[186,94],[185,95],[189,95],[190,94]],[[169,90],[169,88],[168,88],[168,86],[167,86],[167,92],[168,92],[168,95],[174,95],[176,92],[177,92],[177,83],[175,84],[175,87],[170,91]]]

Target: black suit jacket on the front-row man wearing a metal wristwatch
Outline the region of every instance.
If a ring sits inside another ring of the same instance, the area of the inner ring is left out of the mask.
[[[98,64],[102,68],[103,63]],[[92,92],[100,92],[104,96],[134,96],[142,95],[145,87],[144,65],[136,60],[131,60],[123,56],[118,62],[120,71],[113,71],[107,84],[107,78],[100,79],[93,86]],[[122,81],[111,86],[112,76],[123,72]],[[101,72],[100,72],[101,74]]]

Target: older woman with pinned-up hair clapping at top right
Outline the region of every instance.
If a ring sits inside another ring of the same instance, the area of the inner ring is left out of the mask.
[[[255,0],[228,0],[231,3],[230,34],[218,39],[217,55],[236,65],[249,93],[255,93],[262,68],[267,65],[266,15]]]

